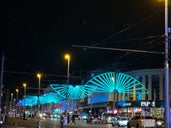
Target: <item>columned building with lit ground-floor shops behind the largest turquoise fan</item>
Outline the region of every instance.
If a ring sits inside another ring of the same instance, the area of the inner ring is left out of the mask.
[[[101,72],[100,72],[101,73]],[[92,72],[92,77],[98,72]],[[143,69],[125,72],[140,81],[148,94],[93,93],[90,97],[80,100],[78,111],[99,114],[104,111],[132,117],[136,114],[146,114],[164,117],[164,69]],[[171,77],[169,83],[171,82]],[[169,92],[171,87],[169,86]],[[171,99],[171,93],[169,93]]]

